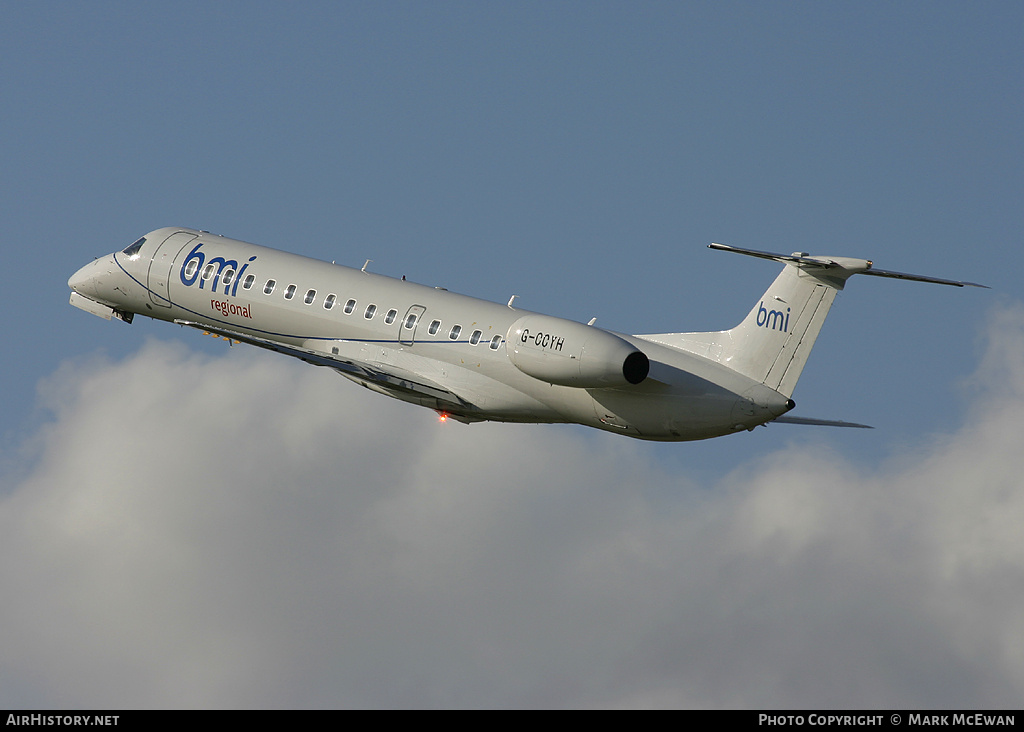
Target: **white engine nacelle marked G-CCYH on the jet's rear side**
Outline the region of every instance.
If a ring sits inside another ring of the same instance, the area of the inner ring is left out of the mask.
[[[520,317],[505,343],[516,369],[561,386],[639,384],[650,371],[647,356],[618,336],[550,315]]]

